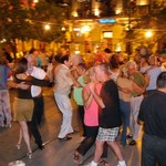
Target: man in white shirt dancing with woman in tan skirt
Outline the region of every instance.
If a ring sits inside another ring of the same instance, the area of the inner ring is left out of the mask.
[[[37,85],[31,86],[31,95],[34,101],[34,110],[33,110],[32,121],[28,124],[29,124],[30,132],[32,133],[35,139],[37,145],[39,146],[40,149],[42,149],[43,148],[42,138],[38,128],[38,125],[41,123],[41,118],[43,116],[43,111],[44,111],[44,102],[43,102],[41,86],[49,85],[49,76],[46,75],[44,70],[34,66],[35,60],[33,58],[33,54],[28,54],[25,58],[28,60],[28,74],[30,74],[31,76],[38,80],[41,80],[37,82]]]

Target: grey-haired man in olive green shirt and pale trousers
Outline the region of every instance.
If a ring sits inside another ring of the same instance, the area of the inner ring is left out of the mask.
[[[137,64],[135,63],[135,61],[128,61],[126,63],[126,70],[129,80],[135,82],[139,87],[146,86],[145,77],[139,71],[137,71]],[[131,124],[129,124],[131,128],[129,136],[132,136],[133,139],[131,141],[129,145],[136,145],[136,139],[139,138],[141,126],[137,124],[137,115],[143,98],[144,98],[143,92],[141,93],[133,90],[131,97]]]

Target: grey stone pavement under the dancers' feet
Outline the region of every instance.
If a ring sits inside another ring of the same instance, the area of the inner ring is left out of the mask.
[[[10,90],[11,94],[11,105],[14,97],[14,90]],[[27,166],[76,166],[73,163],[72,154],[81,142],[79,133],[72,134],[71,141],[62,142],[56,138],[60,125],[61,125],[61,113],[58,111],[53,93],[51,89],[44,89],[44,120],[40,126],[41,135],[45,144],[43,151],[38,149],[34,144],[33,138],[31,138],[31,145],[33,149],[32,158],[29,159],[27,154],[27,148],[22,142],[21,149],[15,148],[15,144],[19,135],[19,125],[12,122],[11,128],[0,128],[0,166],[7,166],[8,163],[21,159]],[[77,129],[76,122],[76,106],[73,103],[73,126]],[[141,142],[136,146],[122,147],[124,158],[127,166],[141,166]],[[84,156],[84,163],[89,163],[93,158],[94,146]],[[111,166],[116,166],[117,160],[108,149],[107,162]]]

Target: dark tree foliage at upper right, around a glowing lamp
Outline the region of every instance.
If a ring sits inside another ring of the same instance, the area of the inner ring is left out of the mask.
[[[125,35],[126,43],[129,45],[127,48],[127,52],[131,53],[131,44],[133,42],[143,42],[145,41],[145,32],[147,30],[152,30],[154,32],[154,37],[152,40],[147,39],[147,46],[152,48],[158,42],[163,42],[166,37],[166,7],[164,3],[154,3],[149,6],[148,13],[145,14],[136,14],[129,12],[128,14],[128,31]],[[128,10],[131,8],[128,7]]]

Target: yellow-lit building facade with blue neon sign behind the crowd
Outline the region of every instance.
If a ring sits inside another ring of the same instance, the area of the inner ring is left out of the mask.
[[[163,0],[71,0],[69,42],[72,50],[94,52],[98,46],[126,52],[124,38],[138,18]],[[103,44],[104,43],[104,44]]]

